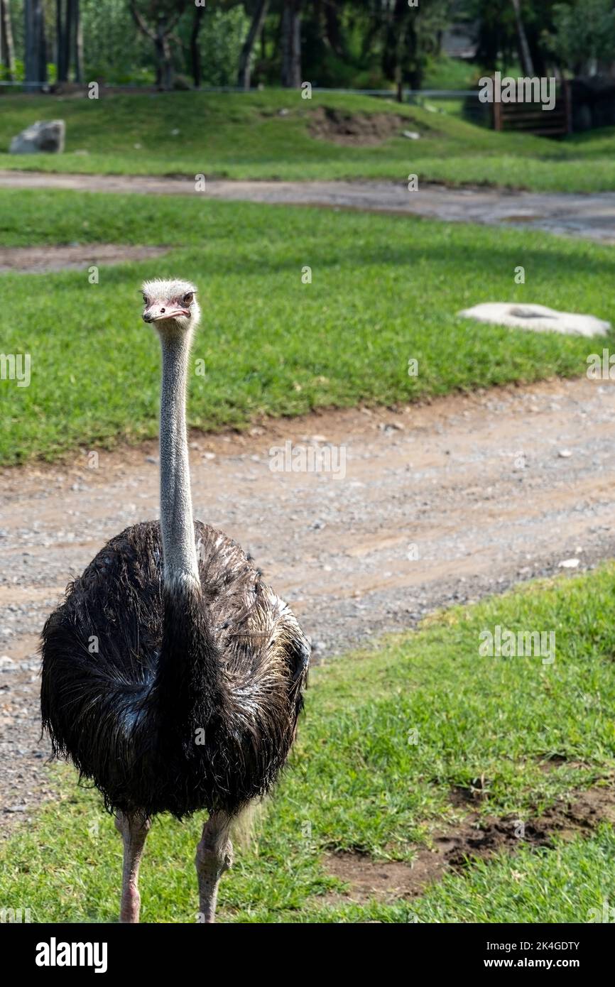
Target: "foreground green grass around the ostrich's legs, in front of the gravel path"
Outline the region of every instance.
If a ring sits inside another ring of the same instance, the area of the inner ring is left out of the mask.
[[[485,815],[531,820],[609,777],[615,765],[612,621],[615,568],[528,584],[456,608],[378,651],[314,670],[307,712],[257,837],[223,878],[226,922],[585,922],[615,894],[615,835],[607,825],[555,850],[450,874],[395,905],[323,900],[340,889],[323,854],[359,851],[412,861],[432,834],[454,827],[454,786],[484,775]],[[556,660],[479,655],[496,624],[556,632]],[[413,733],[412,731],[417,731]],[[410,742],[412,737],[413,741]],[[544,770],[554,755],[562,764]],[[100,798],[57,774],[60,805],[43,808],[0,846],[0,901],[33,921],[113,921],[120,842]],[[161,818],[142,870],[143,921],[192,922],[198,820]]]

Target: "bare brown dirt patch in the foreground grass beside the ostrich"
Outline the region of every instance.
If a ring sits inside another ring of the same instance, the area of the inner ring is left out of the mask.
[[[465,790],[463,790],[465,791]],[[469,795],[470,800],[474,800]],[[460,790],[451,793],[451,801],[460,802]],[[516,817],[484,818],[472,813],[456,829],[435,836],[432,849],[419,850],[413,864],[373,861],[363,854],[329,854],[327,871],[349,885],[340,894],[319,899],[326,904],[344,901],[363,903],[375,898],[393,902],[422,894],[428,884],[445,873],[460,872],[472,860],[489,860],[500,852],[513,853],[524,843],[530,847],[554,846],[554,838],[573,839],[589,834],[601,822],[615,823],[615,790],[608,786],[589,789],[574,801],[548,809],[534,820]]]

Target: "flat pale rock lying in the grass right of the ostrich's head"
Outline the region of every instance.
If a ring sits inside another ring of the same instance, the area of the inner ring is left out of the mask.
[[[606,336],[610,322],[593,315],[558,312],[546,305],[520,305],[507,302],[485,302],[463,309],[458,315],[510,329],[529,329],[534,333],[564,333],[570,336]]]

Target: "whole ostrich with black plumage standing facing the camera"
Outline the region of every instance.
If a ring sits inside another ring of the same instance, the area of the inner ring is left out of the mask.
[[[146,281],[162,345],[160,523],[116,535],[68,585],[42,632],[41,716],[115,811],[120,922],[138,922],[152,816],[206,809],[199,919],[213,922],[231,823],[268,792],[294,739],[309,646],[249,556],[192,519],[186,390],[200,320],[188,281]]]

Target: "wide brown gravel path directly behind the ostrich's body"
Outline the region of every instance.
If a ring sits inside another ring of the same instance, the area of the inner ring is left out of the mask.
[[[250,550],[327,659],[428,612],[615,556],[615,387],[582,378],[397,411],[266,421],[192,443],[197,517]],[[346,446],[346,476],[269,449]],[[157,447],[0,474],[0,830],[48,794],[38,632],[71,576],[157,515]]]

